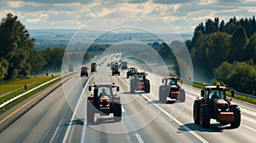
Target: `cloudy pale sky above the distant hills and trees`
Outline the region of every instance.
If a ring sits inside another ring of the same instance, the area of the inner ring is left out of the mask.
[[[26,29],[87,25],[91,30],[128,26],[166,31],[164,22],[178,33],[193,33],[214,17],[225,22],[234,16],[252,18],[256,0],[0,0],[0,18],[8,13],[17,15]]]

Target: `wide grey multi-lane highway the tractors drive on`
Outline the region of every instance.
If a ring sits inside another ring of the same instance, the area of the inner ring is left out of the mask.
[[[80,77],[79,73],[65,77],[2,114],[1,142],[256,142],[256,106],[233,100],[241,108],[238,129],[213,120],[210,128],[201,128],[192,114],[200,89],[183,84],[184,103],[162,104],[158,101],[161,76],[148,72],[150,93],[131,94],[126,70],[120,76],[111,76],[109,61],[89,77]],[[114,82],[120,87],[121,122],[115,122],[112,115],[96,115],[94,123],[86,123],[86,100],[91,94],[88,86],[93,82]]]

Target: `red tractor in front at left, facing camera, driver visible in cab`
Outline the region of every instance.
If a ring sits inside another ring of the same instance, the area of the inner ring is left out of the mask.
[[[94,122],[95,113],[101,116],[108,116],[113,113],[115,121],[122,119],[122,104],[120,97],[114,93],[113,89],[119,91],[119,86],[114,83],[100,83],[89,86],[89,91],[94,88],[93,94],[90,94],[87,101],[87,122]]]

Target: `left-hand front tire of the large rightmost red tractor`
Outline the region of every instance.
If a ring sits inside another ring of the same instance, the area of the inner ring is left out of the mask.
[[[200,125],[207,128],[210,126],[210,114],[211,111],[208,106],[201,106],[200,108]]]

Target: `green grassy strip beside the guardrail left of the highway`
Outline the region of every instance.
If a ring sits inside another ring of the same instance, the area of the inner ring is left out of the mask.
[[[59,77],[59,76],[55,76],[55,77]],[[10,99],[14,98],[15,96],[17,96],[19,94],[22,94],[22,93],[26,92],[26,90],[24,88],[20,88],[20,86],[23,87],[25,84],[29,84],[28,85],[28,90],[29,90],[29,89],[33,89],[35,87],[38,87],[40,84],[46,83],[51,79],[53,79],[53,78],[52,77],[30,77],[28,79],[20,80],[20,81],[17,81],[17,82],[2,84],[2,85],[0,85],[0,89],[2,89],[3,87],[4,88],[9,88],[9,89],[5,89],[4,90],[5,92],[14,91],[13,87],[16,87],[18,89],[15,90],[14,92],[11,92],[9,94],[5,94],[4,96],[0,97],[0,104],[2,104],[3,102],[5,102],[7,100],[10,100]],[[19,99],[9,103],[7,106],[3,107],[3,110],[0,111],[0,114],[3,113],[4,111],[8,110],[12,106],[17,105],[22,100],[26,100],[26,98],[30,97],[32,94],[38,93],[39,91],[49,87],[49,85],[51,85],[53,83],[56,83],[59,80],[61,80],[61,78],[59,78],[59,79],[57,79],[57,80],[55,80],[51,83],[48,83],[48,84],[44,85],[41,88],[33,90],[32,92],[30,92],[28,94],[25,94],[24,96],[20,97]],[[1,90],[1,92],[2,92],[2,94],[4,94],[2,90]]]

